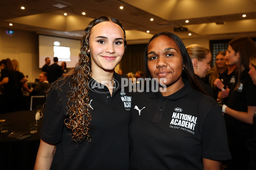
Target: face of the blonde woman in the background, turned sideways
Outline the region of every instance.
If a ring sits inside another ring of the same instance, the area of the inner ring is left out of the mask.
[[[201,78],[204,78],[206,75],[206,72],[211,68],[210,66],[211,60],[212,60],[212,54],[208,53],[205,59],[202,59],[201,61],[197,61],[197,68],[195,68],[195,74],[197,74]]]

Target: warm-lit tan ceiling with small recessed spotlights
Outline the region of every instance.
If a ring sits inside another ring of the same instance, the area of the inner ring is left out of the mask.
[[[183,39],[256,37],[256,0],[0,1],[0,27],[61,37],[81,39],[88,23],[100,16],[120,20],[129,44],[146,43],[161,31],[173,32]],[[26,9],[20,9],[21,6]],[[124,9],[119,9],[119,6],[124,6]],[[86,12],[84,16],[81,14],[83,11]],[[65,12],[67,16],[63,15]],[[247,17],[242,17],[242,14]],[[10,27],[9,23],[13,26]],[[177,26],[186,27],[189,31],[174,32]]]

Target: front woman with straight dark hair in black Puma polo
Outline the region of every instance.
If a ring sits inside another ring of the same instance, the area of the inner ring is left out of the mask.
[[[203,94],[183,42],[158,33],[144,59],[146,78],[157,79],[162,91],[133,93],[130,169],[220,170],[221,160],[231,158],[224,119]]]

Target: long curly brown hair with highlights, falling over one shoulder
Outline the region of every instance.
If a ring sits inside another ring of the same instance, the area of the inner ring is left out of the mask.
[[[72,139],[76,143],[83,142],[87,138],[88,142],[91,142],[91,114],[89,105],[89,81],[92,74],[91,71],[91,58],[88,53],[89,50],[89,37],[91,30],[99,23],[109,21],[116,23],[122,28],[125,34],[125,30],[119,20],[112,17],[99,17],[91,21],[87,28],[85,28],[85,34],[82,38],[81,51],[79,53],[79,61],[76,63],[76,67],[72,68],[70,72],[64,74],[58,82],[62,81],[63,84],[70,80],[70,91],[68,93],[67,102],[67,118],[64,123],[72,131]],[[126,37],[124,39],[124,45],[126,47]],[[62,84],[62,85],[63,85]],[[58,86],[61,88],[61,85]]]

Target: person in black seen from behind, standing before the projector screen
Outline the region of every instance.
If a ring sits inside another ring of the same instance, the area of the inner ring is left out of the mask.
[[[61,66],[58,65],[58,57],[53,57],[53,62],[54,63],[48,67],[48,80],[50,84],[55,82],[63,74]]]

